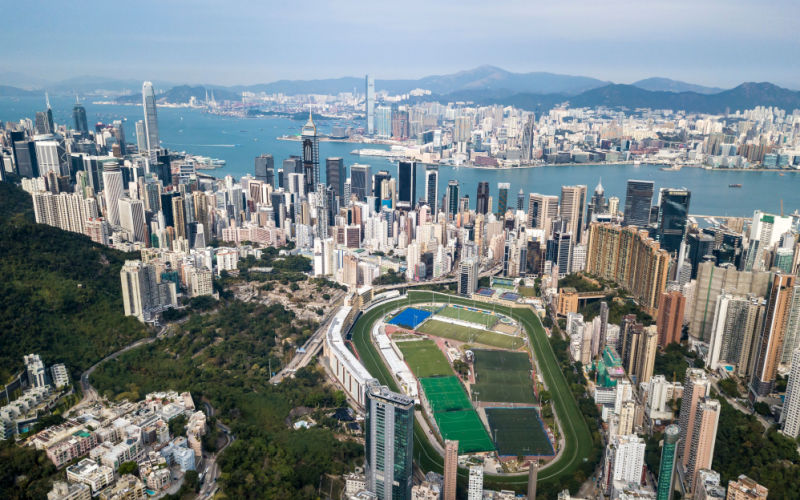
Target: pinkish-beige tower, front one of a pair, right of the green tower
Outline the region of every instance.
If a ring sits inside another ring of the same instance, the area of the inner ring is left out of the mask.
[[[700,469],[710,469],[714,460],[719,414],[720,405],[716,399],[704,398],[697,403],[694,425],[690,429],[691,436],[687,435],[688,455],[684,456],[684,479],[691,493],[697,485],[697,472]]]

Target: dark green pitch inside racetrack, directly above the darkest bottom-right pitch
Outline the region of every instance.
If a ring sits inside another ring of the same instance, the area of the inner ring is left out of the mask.
[[[475,385],[480,401],[536,403],[531,363],[523,352],[474,349]]]

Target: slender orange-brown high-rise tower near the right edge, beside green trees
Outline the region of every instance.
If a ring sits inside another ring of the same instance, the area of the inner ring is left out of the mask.
[[[755,369],[751,390],[757,396],[772,392],[775,374],[783,354],[783,339],[791,311],[792,294],[797,277],[791,274],[776,274],[767,296],[764,327],[756,344]]]

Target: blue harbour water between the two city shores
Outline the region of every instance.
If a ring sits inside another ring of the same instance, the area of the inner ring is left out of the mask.
[[[58,97],[50,99],[56,123],[72,124],[73,99]],[[84,103],[90,127],[95,122],[110,123],[125,120],[125,134],[128,142],[135,142],[135,123],[142,119],[140,106],[99,105]],[[18,121],[28,117],[33,119],[36,111],[45,108],[42,98],[0,98],[0,120]],[[263,153],[272,154],[278,167],[289,155],[299,155],[300,143],[277,140],[282,135],[298,134],[303,121],[281,117],[235,118],[204,113],[189,108],[158,109],[159,132],[164,147],[175,151],[219,158],[226,161],[223,168],[206,173],[236,178],[253,172],[253,159]],[[320,120],[318,130],[327,133],[335,125],[334,121]],[[386,149],[387,146],[360,145],[342,142],[320,142],[320,170],[325,171],[325,158],[342,157],[349,167],[353,163],[371,165],[372,172],[388,170],[396,176],[397,167],[385,158],[359,157],[351,151],[360,148]],[[424,192],[423,165],[417,171],[417,196]],[[678,171],[663,171],[657,166],[631,164],[625,165],[568,165],[538,168],[487,170],[468,167],[439,168],[439,198],[441,199],[447,183],[451,179],[459,181],[461,194],[468,194],[474,207],[477,185],[480,181],[489,182],[490,195],[497,204],[497,183],[508,182],[509,206],[514,206],[517,193],[522,189],[526,194],[560,194],[562,185],[586,184],[588,195],[602,179],[606,197],[617,196],[624,206],[625,185],[628,179],[652,180],[656,190],[663,187],[686,188],[692,192],[690,212],[692,214],[716,216],[749,216],[753,210],[771,212],[780,210],[783,200],[784,210],[790,213],[800,209],[800,172],[747,172],[747,171],[708,171],[701,168],[683,168]],[[730,184],[741,184],[741,188],[730,188]],[[527,203],[527,202],[526,202]],[[655,200],[654,200],[655,203]]]

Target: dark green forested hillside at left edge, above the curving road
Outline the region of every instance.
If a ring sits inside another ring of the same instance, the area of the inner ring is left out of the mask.
[[[0,256],[0,382],[25,354],[65,363],[74,378],[147,335],[123,315],[120,291],[120,268],[138,254],[34,223],[30,195],[8,182],[0,182]]]

